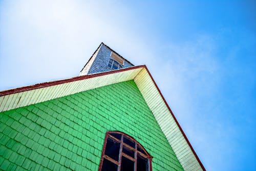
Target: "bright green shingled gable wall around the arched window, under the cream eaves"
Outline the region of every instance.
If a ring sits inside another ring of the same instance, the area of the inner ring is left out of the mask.
[[[183,170],[134,81],[0,113],[1,170],[98,170],[106,131],[134,137],[153,171]]]

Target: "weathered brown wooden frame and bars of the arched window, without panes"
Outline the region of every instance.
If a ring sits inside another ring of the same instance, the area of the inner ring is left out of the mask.
[[[121,140],[119,140],[118,138],[114,137],[113,135],[110,135],[111,133],[118,133],[118,134],[121,134]],[[133,148],[132,146],[126,144],[123,142],[123,137],[126,137],[126,138],[129,138],[130,140],[132,140],[133,142],[135,142],[135,148]],[[118,141],[120,143],[120,149],[119,149],[119,162],[110,158],[109,156],[106,156],[105,155],[105,149],[106,149],[106,142],[108,140],[108,137],[110,137],[111,139],[114,139],[115,141]],[[123,145],[126,147],[126,148],[129,148],[130,150],[134,151],[135,154],[134,154],[134,158],[132,158],[131,156],[125,154],[122,152],[122,148],[123,148]],[[140,149],[142,149],[142,152],[138,151],[138,145],[140,146]],[[105,134],[105,139],[104,139],[104,144],[103,144],[103,149],[102,149],[102,153],[101,153],[101,159],[100,159],[100,164],[99,164],[99,169],[98,171],[101,171],[101,167],[102,167],[102,164],[103,164],[103,160],[106,159],[106,160],[109,160],[111,161],[112,163],[115,163],[118,165],[118,171],[121,170],[121,163],[122,163],[122,156],[124,156],[125,158],[129,159],[129,160],[132,160],[135,162],[135,171],[137,171],[137,154],[139,154],[140,156],[148,159],[148,168],[149,168],[149,171],[152,171],[152,156],[144,149],[144,147],[138,142],[136,141],[133,137],[123,133],[123,132],[120,132],[120,131],[107,131],[106,134]]]

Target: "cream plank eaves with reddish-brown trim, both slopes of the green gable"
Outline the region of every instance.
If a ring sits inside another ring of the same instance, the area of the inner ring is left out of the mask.
[[[134,80],[184,170],[205,170],[145,65],[0,91],[0,112]]]

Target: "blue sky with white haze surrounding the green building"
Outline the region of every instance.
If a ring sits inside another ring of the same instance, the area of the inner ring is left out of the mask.
[[[255,1],[0,1],[0,89],[146,64],[207,170],[256,170]]]

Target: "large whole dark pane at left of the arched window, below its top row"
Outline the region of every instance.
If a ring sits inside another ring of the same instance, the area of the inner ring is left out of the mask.
[[[119,150],[120,150],[120,143],[115,141],[114,139],[108,137],[108,140],[106,141],[105,155],[118,161],[119,160]]]

